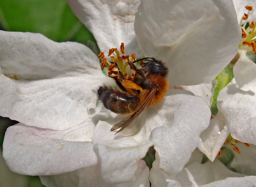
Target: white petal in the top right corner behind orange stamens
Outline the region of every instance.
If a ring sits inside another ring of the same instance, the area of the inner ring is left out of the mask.
[[[248,10],[245,8],[245,6],[252,6],[253,11],[249,12],[249,17],[246,21],[251,23],[252,21],[255,21],[256,19],[256,1],[255,0],[233,0],[233,4],[237,13],[237,21],[240,23],[244,13],[248,13]]]

